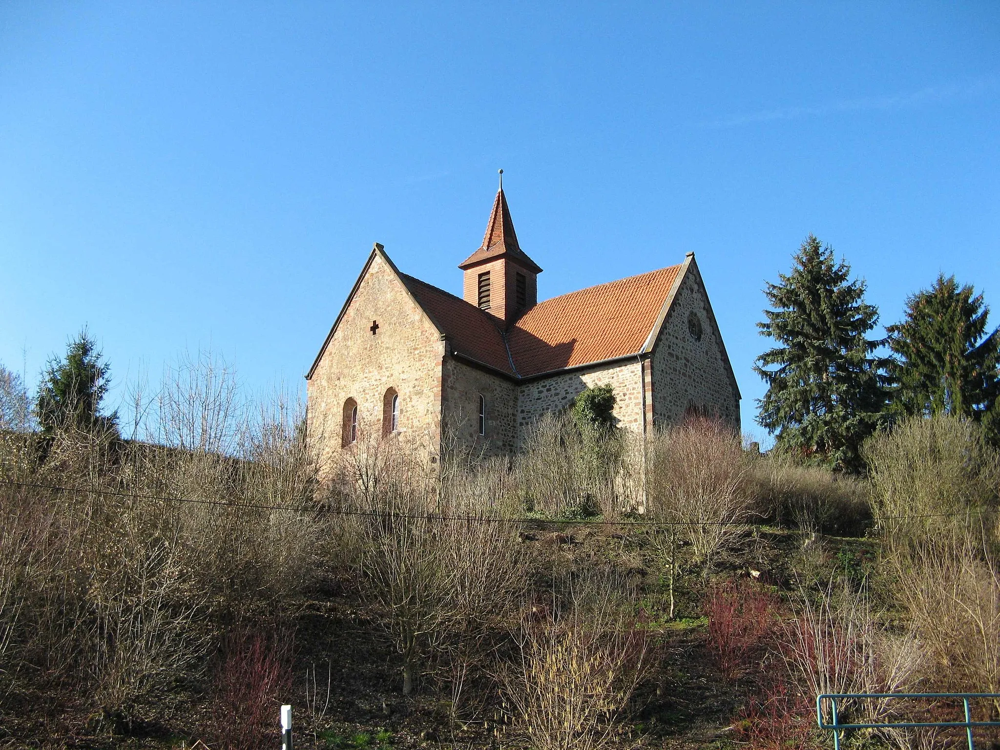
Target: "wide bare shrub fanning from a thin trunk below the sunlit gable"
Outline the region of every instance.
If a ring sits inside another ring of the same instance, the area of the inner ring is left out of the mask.
[[[359,540],[363,592],[384,615],[402,656],[403,693],[409,694],[432,654],[447,649],[457,634],[485,627],[521,597],[527,563],[516,528],[492,520],[502,513],[497,498],[460,492],[454,478],[442,493],[401,449],[377,449],[381,465],[393,473],[372,473],[357,485],[365,515],[350,523]],[[371,465],[363,457],[345,460]]]

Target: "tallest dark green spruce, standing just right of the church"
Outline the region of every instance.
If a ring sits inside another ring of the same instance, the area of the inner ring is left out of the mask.
[[[776,434],[779,449],[831,468],[861,468],[861,443],[878,426],[885,405],[880,340],[867,338],[878,310],[864,301],[865,283],[809,235],[792,271],[767,283],[773,309],[758,323],[777,343],[754,367],[768,385],[757,421]]]

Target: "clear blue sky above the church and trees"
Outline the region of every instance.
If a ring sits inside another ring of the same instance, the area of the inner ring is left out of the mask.
[[[1000,4],[0,5],[0,362],[84,324],[300,384],[373,242],[461,293],[505,189],[539,296],[694,251],[744,426],[765,280],[829,242],[886,324],[1000,323]]]

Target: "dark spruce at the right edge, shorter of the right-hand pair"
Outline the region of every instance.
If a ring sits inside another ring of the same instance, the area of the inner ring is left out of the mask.
[[[887,328],[893,410],[983,421],[1000,395],[1000,329],[987,334],[988,318],[983,295],[954,276],[908,297],[903,321]]]

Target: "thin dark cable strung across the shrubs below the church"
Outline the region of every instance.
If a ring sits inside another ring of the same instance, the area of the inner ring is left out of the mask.
[[[496,516],[445,516],[445,515],[435,515],[433,513],[428,514],[416,514],[416,513],[392,513],[388,511],[377,511],[377,510],[347,510],[344,508],[328,508],[328,507],[294,507],[288,505],[268,505],[264,503],[248,503],[248,502],[230,502],[228,500],[205,500],[202,498],[193,497],[176,497],[170,495],[150,495],[137,492],[123,492],[120,490],[99,490],[92,487],[64,487],[61,485],[54,484],[41,484],[37,482],[12,482],[5,479],[0,479],[0,485],[6,485],[9,487],[28,487],[32,489],[50,490],[53,492],[71,492],[71,493],[87,493],[91,495],[102,495],[108,497],[121,497],[130,498],[137,500],[159,500],[162,502],[170,503],[191,503],[194,505],[215,505],[226,508],[246,508],[248,510],[284,510],[293,513],[326,513],[331,515],[342,515],[342,516],[391,516],[393,518],[406,518],[406,519],[433,519],[438,521],[465,521],[465,522],[478,522],[478,523],[515,523],[515,524],[528,524],[528,523],[561,523],[561,524],[589,524],[593,526],[747,526],[753,527],[757,524],[747,523],[747,522],[727,522],[727,521],[636,521],[636,520],[621,520],[621,521],[609,521],[609,520],[587,520],[587,519],[567,519],[567,518],[499,518]],[[954,516],[966,516],[966,515],[982,515],[984,513],[993,512],[993,509],[978,509],[978,510],[967,510],[967,511],[954,511],[952,513],[923,513],[914,515],[903,515],[903,516],[882,516],[881,521],[902,521],[917,518],[948,518]]]

